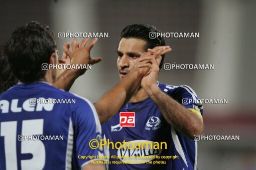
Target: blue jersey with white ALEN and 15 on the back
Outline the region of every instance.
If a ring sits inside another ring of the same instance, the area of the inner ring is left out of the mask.
[[[46,82],[0,95],[0,169],[80,169],[103,155],[89,147],[100,136],[93,104]]]

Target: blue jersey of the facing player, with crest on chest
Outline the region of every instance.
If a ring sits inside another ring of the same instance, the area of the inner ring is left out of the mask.
[[[179,103],[198,113],[203,114],[203,105],[198,102],[196,93],[187,85],[172,86],[158,83],[161,90]],[[135,112],[135,126],[120,126],[119,112]],[[163,148],[132,148],[122,147],[106,150],[110,157],[108,168],[111,170],[124,169],[197,169],[197,141],[190,140],[173,128],[164,118],[160,109],[146,98],[140,102],[128,102],[109,121],[102,124],[104,138],[115,142],[166,142],[167,149]],[[142,144],[143,145],[143,144]],[[156,158],[160,156],[160,158]],[[164,157],[169,155],[169,157]],[[143,156],[146,156],[143,157]],[[148,157],[147,157],[148,156]],[[151,156],[151,157],[150,157]],[[118,157],[118,158],[117,158]],[[138,157],[138,158],[136,158]],[[129,161],[133,160],[133,161]],[[125,162],[118,165],[112,162]],[[136,161],[136,162],[135,162]],[[147,163],[148,161],[148,163]],[[150,162],[152,161],[152,162]],[[130,162],[130,163],[129,163]]]

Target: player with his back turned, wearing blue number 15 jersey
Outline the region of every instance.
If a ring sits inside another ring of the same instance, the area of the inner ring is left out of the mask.
[[[73,57],[86,55],[88,63],[93,60],[89,51],[95,40],[87,41],[83,39],[73,49]],[[48,28],[30,22],[16,29],[8,41],[7,55],[19,83],[0,95],[0,169],[104,169],[103,164],[90,163],[104,160],[97,157],[103,151],[88,144],[101,136],[93,104],[54,87],[56,69],[41,68],[42,63],[58,62]]]

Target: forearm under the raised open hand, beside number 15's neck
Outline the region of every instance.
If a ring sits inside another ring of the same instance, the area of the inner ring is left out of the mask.
[[[79,76],[80,70],[66,69],[59,76],[56,77],[53,85],[57,88],[69,91],[76,78]]]

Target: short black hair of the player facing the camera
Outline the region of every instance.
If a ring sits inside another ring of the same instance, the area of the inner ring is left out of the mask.
[[[154,48],[155,46],[165,45],[165,40],[162,37],[150,38],[150,32],[161,32],[155,26],[150,24],[132,24],[127,25],[122,29],[121,38],[138,38],[147,41],[147,44],[144,48],[145,51],[148,51],[148,48]],[[162,68],[163,62],[165,59],[165,54],[162,55],[162,60],[159,65],[159,68]]]

